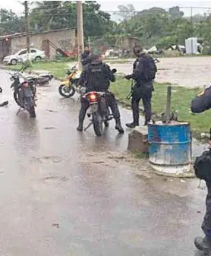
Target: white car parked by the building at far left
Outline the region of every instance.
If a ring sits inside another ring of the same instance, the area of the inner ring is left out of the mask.
[[[45,52],[38,49],[30,49],[29,54],[30,61],[40,62],[43,58],[46,58]],[[27,49],[22,49],[19,52],[8,55],[3,58],[5,64],[16,65],[17,62],[24,62],[27,60]]]

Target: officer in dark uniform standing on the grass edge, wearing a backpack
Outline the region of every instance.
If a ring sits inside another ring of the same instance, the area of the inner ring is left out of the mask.
[[[134,46],[134,55],[137,56],[137,59],[134,62],[133,74],[125,76],[126,79],[134,79],[135,81],[131,100],[133,122],[126,124],[128,128],[135,128],[139,125],[139,102],[141,99],[145,112],[144,125],[150,122],[152,115],[153,79],[157,71],[153,58],[150,55],[146,55],[141,46]]]

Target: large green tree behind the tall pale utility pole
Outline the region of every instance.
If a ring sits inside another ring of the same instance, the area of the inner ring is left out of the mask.
[[[100,11],[96,1],[83,3],[84,35],[101,36],[112,30],[110,14]],[[30,27],[34,32],[77,27],[77,7],[75,1],[36,2],[30,13]]]

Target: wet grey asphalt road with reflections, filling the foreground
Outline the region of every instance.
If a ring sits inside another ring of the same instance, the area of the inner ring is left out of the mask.
[[[16,115],[0,75],[10,102],[0,108],[0,255],[200,255],[206,191],[197,180],[137,178],[141,168],[111,157],[124,153],[128,131],[77,133],[78,101],[61,99],[57,81],[38,89],[36,120]]]

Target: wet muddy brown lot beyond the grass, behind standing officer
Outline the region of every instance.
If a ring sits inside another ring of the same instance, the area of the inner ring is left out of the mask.
[[[203,87],[211,82],[211,57],[159,58],[159,83],[169,82],[184,87]],[[127,64],[113,64],[118,72],[130,74],[132,61]]]

